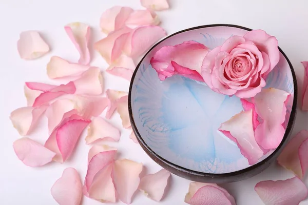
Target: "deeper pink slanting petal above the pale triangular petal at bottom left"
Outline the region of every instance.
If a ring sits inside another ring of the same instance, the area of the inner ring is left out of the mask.
[[[100,170],[102,170],[106,166],[113,163],[114,157],[117,154],[117,150],[111,150],[111,149],[105,150],[105,148],[100,148],[100,147],[95,147],[93,149],[94,149],[93,151],[91,150],[89,151],[89,156],[90,154],[93,155],[94,151],[99,151],[100,149],[104,149],[104,150],[93,155],[93,157],[90,159],[88,163],[88,170],[87,170],[87,175],[85,178],[85,185],[84,185],[86,187],[85,189],[86,192],[89,192],[95,175]]]

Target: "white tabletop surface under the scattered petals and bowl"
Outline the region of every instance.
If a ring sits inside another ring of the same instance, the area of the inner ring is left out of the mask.
[[[70,160],[63,165],[50,163],[42,168],[26,167],[14,154],[12,143],[18,133],[9,120],[10,112],[18,107],[26,106],[23,93],[25,81],[40,81],[54,83],[46,75],[46,64],[52,55],[58,55],[71,61],[77,61],[79,54],[66,35],[63,26],[71,22],[84,22],[93,27],[94,40],[103,35],[99,31],[99,18],[101,13],[111,6],[130,6],[141,9],[139,0],[1,0],[0,1],[0,122],[2,128],[2,141],[0,153],[2,164],[0,169],[0,203],[11,204],[56,204],[50,194],[50,188],[59,178],[66,167],[74,167],[84,180],[87,169],[87,153],[89,146],[84,143],[84,136],[76,147]],[[286,53],[293,64],[298,84],[302,84],[302,60],[308,60],[308,12],[305,0],[283,1],[204,1],[204,0],[170,0],[171,9],[159,12],[162,19],[161,26],[168,34],[189,27],[205,24],[236,24],[252,29],[263,29],[275,35],[279,46]],[[52,48],[48,55],[33,61],[20,59],[16,49],[19,34],[25,30],[38,30],[44,34]],[[94,54],[92,65],[106,69],[107,65],[97,53]],[[128,91],[128,81],[105,74],[106,89]],[[301,88],[299,89],[299,94]],[[120,117],[115,114],[111,119],[121,127]],[[44,118],[31,138],[44,143],[48,138],[47,120]],[[308,113],[298,111],[296,125],[293,133],[301,129],[308,129]],[[120,143],[109,143],[121,153],[120,157],[144,163],[147,173],[160,170],[139,147],[129,139],[130,131],[124,131]],[[245,181],[222,185],[232,194],[238,205],[263,204],[254,191],[254,186],[260,180],[278,180],[292,177],[290,172],[272,166],[263,173]],[[308,179],[305,178],[308,185]],[[170,190],[160,204],[185,204],[184,196],[188,190],[189,181],[172,175]],[[101,204],[86,197],[83,204]],[[118,202],[118,204],[122,204]],[[138,193],[133,198],[133,204],[158,204]],[[300,203],[308,204],[308,201]],[[291,204],[290,204],[291,205]]]

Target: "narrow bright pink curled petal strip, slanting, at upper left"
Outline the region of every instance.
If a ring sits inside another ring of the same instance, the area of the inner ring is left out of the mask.
[[[76,87],[73,82],[69,82],[66,85],[57,86],[49,91],[41,93],[34,100],[32,107],[38,107],[49,103],[49,101],[60,97],[65,94],[73,94],[76,91]]]

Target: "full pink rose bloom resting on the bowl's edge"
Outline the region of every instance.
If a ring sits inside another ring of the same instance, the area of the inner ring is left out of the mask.
[[[201,74],[215,92],[254,97],[279,61],[278,41],[263,30],[228,38],[204,58]]]

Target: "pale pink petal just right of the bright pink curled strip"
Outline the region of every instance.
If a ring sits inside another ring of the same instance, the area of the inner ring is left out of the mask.
[[[97,67],[89,68],[73,83],[76,87],[75,94],[100,95],[104,92],[104,79]]]

